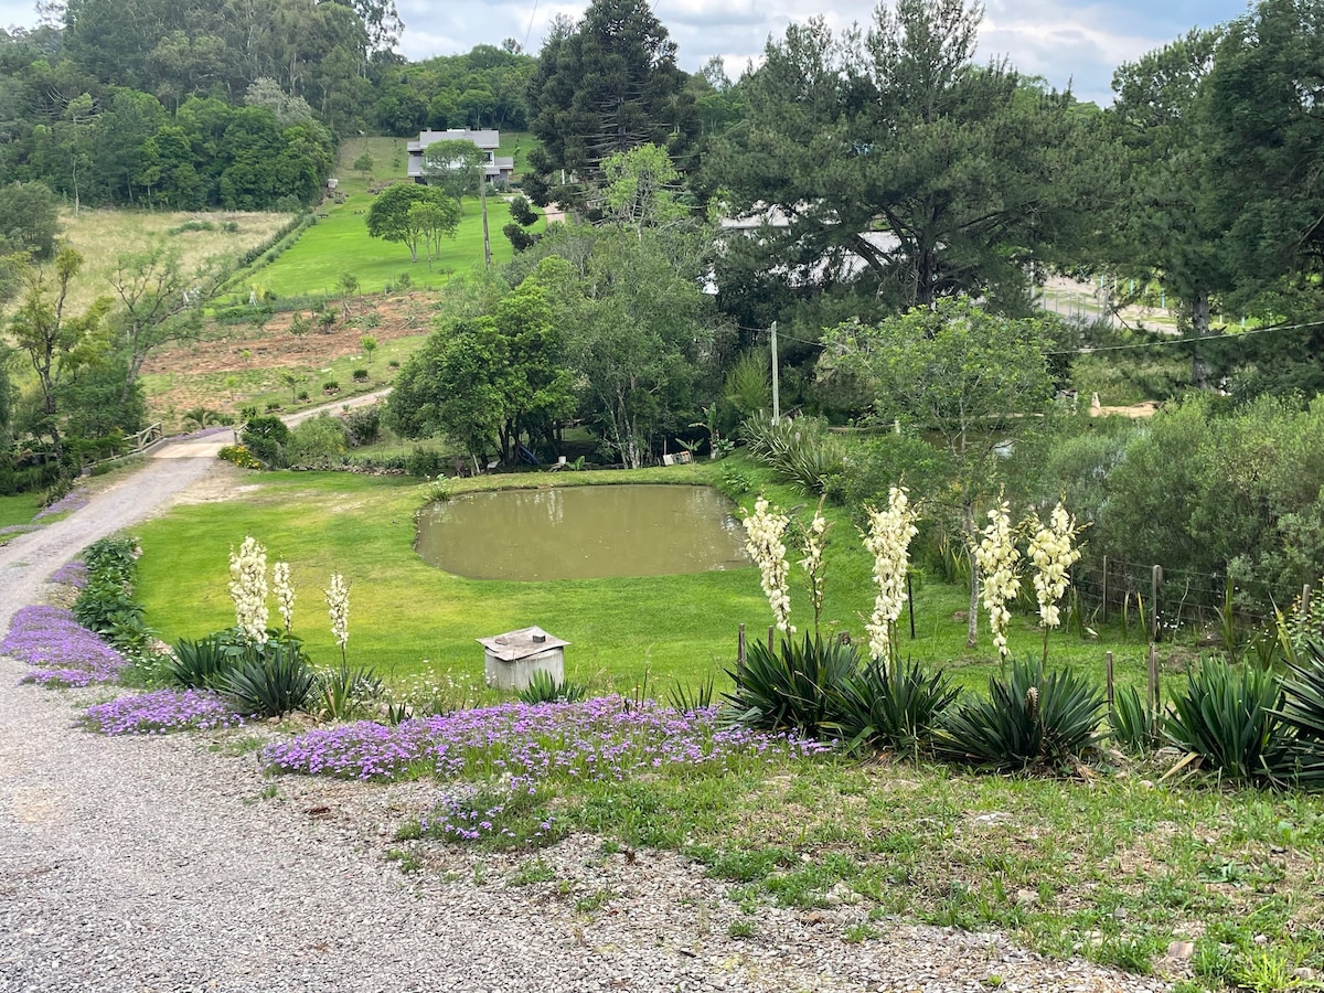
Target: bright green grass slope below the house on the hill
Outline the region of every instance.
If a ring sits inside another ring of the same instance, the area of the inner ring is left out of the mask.
[[[372,172],[367,175],[351,168],[364,151],[373,160]],[[347,140],[340,148],[335,173],[346,203],[323,204],[319,214],[326,216],[319,217],[318,224],[305,232],[278,260],[245,274],[244,285],[253,283],[281,297],[334,294],[340,277],[350,273],[359,279],[359,286],[365,293],[399,285],[401,274],[409,275],[412,286],[436,289],[445,283],[450,273],[482,265],[483,228],[478,197],[465,201],[465,216],[455,238],[442,242],[441,257],[430,263],[421,256],[413,262],[409,249],[397,241],[368,237],[367,213],[372,207],[368,188],[404,180],[405,169],[405,139]],[[487,218],[493,262],[504,262],[510,260],[512,250],[500,230],[510,221],[510,211],[502,197],[487,199]]]

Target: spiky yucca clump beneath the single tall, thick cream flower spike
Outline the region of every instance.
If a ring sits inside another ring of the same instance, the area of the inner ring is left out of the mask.
[[[941,671],[925,675],[919,662],[903,666],[900,659],[875,659],[829,690],[834,716],[826,727],[850,751],[867,744],[918,752],[959,694]]]

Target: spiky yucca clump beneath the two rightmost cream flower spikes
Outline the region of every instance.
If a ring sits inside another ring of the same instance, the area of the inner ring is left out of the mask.
[[[1008,677],[989,677],[989,695],[948,711],[933,730],[939,757],[989,769],[1068,764],[1095,748],[1103,692],[1070,670],[1013,661]]]

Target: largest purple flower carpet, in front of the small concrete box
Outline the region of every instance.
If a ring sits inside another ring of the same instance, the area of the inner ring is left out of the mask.
[[[583,703],[506,703],[406,720],[316,728],[267,745],[283,772],[381,780],[409,772],[444,779],[624,780],[667,768],[726,768],[824,752],[786,735],[722,727],[718,708],[679,714],[618,696]]]

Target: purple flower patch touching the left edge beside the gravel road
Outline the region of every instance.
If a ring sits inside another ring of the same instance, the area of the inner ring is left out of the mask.
[[[62,606],[25,606],[0,641],[0,655],[32,666],[24,682],[41,686],[113,683],[127,662]]]

